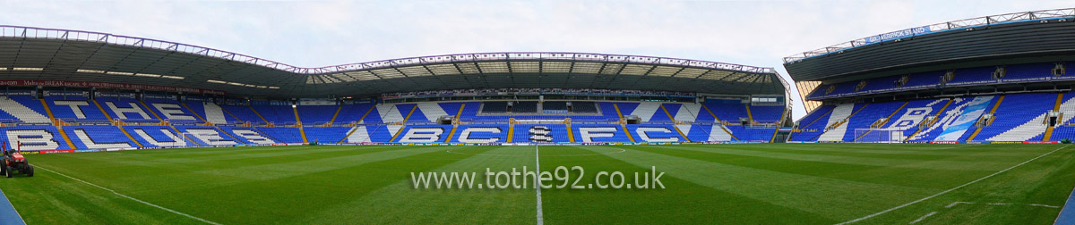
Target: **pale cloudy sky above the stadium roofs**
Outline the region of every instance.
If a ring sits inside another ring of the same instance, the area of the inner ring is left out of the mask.
[[[774,68],[890,31],[1075,6],[1071,0],[4,1],[0,25],[105,32],[303,68],[469,52],[565,51]],[[792,85],[794,118],[806,115]]]

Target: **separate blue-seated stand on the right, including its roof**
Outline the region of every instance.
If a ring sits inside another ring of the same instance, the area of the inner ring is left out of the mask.
[[[921,26],[784,61],[809,111],[791,141],[1075,137],[1075,9]]]

